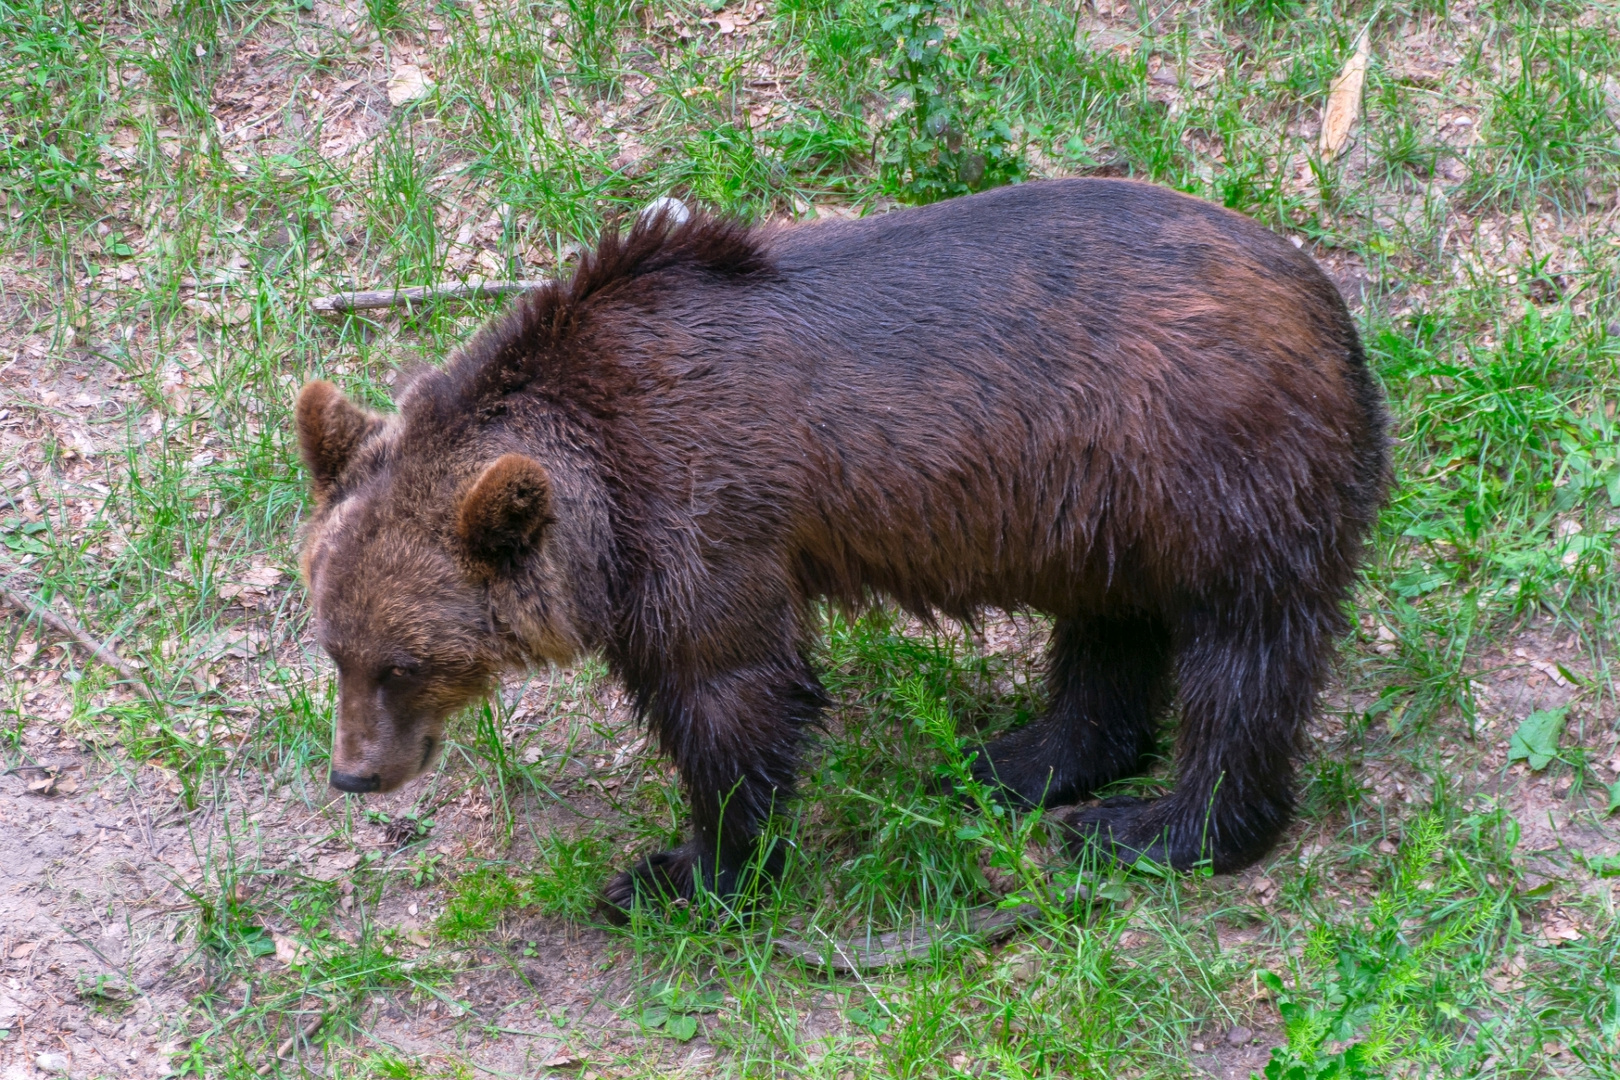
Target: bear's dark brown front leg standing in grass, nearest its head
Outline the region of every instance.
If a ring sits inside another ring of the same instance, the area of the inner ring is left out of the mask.
[[[698,889],[729,900],[755,871],[774,876],[781,853],[760,860],[760,829],[792,797],[804,727],[825,703],[802,657],[671,680],[648,695],[648,721],[692,805],[692,839],[608,882],[606,913],[622,920],[637,900],[690,900]]]

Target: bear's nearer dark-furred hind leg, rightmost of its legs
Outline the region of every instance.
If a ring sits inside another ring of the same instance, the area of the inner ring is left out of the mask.
[[[1265,855],[1293,818],[1293,753],[1333,627],[1332,607],[1281,601],[1189,615],[1176,635],[1176,789],[1069,811],[1071,847],[1174,870],[1207,863],[1215,873]]]

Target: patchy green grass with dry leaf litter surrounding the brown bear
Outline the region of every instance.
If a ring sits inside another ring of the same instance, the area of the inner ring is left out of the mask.
[[[322,811],[335,688],[293,585],[293,393],[321,376],[387,406],[400,368],[441,363],[497,309],[326,319],[311,298],[554,274],[666,193],[807,217],[1103,173],[1251,214],[1374,282],[1358,317],[1398,486],[1301,826],[1243,878],[1079,873],[1038,814],[998,814],[964,784],[972,745],[1038,712],[1038,656],[828,615],[839,706],[773,826],[781,886],[744,925],[698,904],[612,931],[598,975],[629,975],[611,1018],[556,1030],[582,1052],[616,1030],[663,1054],[603,1041],[603,1075],[659,1075],[701,1035],[700,1070],[721,1075],[1179,1077],[1239,1025],[1278,1044],[1254,1062],[1268,1078],[1620,1075],[1614,3],[352,8],[0,0],[0,374],[36,372],[0,402],[21,424],[0,447],[3,572],[143,664],[159,698],[113,691],[76,654],[16,659],[11,620],[0,756],[63,727],[120,769],[162,766],[199,811],[183,939],[209,989],[175,1018],[180,1067],[248,1075],[322,1012],[316,1070],[471,1075],[471,1049],[374,1043],[377,1002],[439,1002],[507,1038],[463,980],[541,952],[522,936],[535,920],[595,926],[598,884],[682,829],[679,789],[593,664],[457,719],[410,810],[426,839],[337,881],[267,861],[248,780],[311,839],[368,826],[360,803]],[[1364,113],[1327,162],[1320,108],[1369,26]],[[405,62],[434,86],[394,107]],[[1571,683],[1541,772],[1507,756],[1533,712],[1513,698],[1528,667],[1495,682],[1516,648],[1557,653]],[[1163,738],[1124,790],[1170,782]],[[1531,847],[1524,792],[1584,831]],[[488,810],[465,857],[447,853],[457,806]],[[1580,847],[1594,836],[1602,850]],[[859,978],[771,946],[961,926],[1004,899],[1042,908],[1011,944],[949,939]],[[1549,938],[1554,920],[1581,934]],[[300,963],[261,955],[272,928]]]

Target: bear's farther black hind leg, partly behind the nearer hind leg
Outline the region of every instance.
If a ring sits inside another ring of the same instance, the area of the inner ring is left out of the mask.
[[[1171,701],[1170,635],[1150,619],[1061,619],[1047,664],[1047,714],[974,763],[1022,806],[1063,806],[1140,771]]]

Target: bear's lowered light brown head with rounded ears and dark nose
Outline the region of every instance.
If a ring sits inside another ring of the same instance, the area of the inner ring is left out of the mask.
[[[433,764],[446,719],[504,667],[572,649],[554,606],[505,628],[492,615],[492,593],[539,559],[549,474],[509,453],[465,463],[460,483],[441,471],[452,483],[436,492],[389,465],[387,423],[327,382],[300,393],[298,437],[318,504],[303,573],[339,680],[330,780],[387,792]]]

